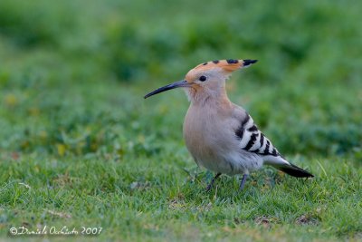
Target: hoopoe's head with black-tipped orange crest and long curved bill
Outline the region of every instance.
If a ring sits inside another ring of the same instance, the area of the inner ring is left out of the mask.
[[[186,73],[185,80],[160,87],[149,92],[145,98],[178,87],[186,88],[191,101],[199,100],[201,97],[217,96],[224,91],[225,81],[234,71],[256,62],[256,60],[221,60],[201,63]]]

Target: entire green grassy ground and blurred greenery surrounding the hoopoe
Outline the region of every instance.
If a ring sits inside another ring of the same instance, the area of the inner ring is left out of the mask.
[[[1,1],[0,239],[66,226],[102,231],[51,238],[360,241],[361,7]],[[143,95],[224,58],[259,60],[230,98],[314,179],[265,167],[243,192],[222,176],[205,193],[185,94]]]

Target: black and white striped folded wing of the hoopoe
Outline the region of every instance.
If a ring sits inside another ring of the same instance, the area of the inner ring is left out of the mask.
[[[258,127],[252,121],[252,117],[246,114],[235,135],[240,140],[240,147],[243,150],[257,153],[261,156],[281,157],[281,154],[275,149],[271,141],[266,138]]]

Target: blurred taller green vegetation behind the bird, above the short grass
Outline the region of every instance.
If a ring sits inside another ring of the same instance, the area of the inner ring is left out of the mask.
[[[359,6],[1,1],[1,153],[158,152],[181,139],[186,98],[143,94],[198,63],[240,58],[260,62],[233,75],[231,99],[280,150],[360,154]]]

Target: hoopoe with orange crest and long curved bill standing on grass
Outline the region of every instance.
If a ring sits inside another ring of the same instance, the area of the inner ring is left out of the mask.
[[[312,178],[271,144],[242,107],[229,100],[225,81],[239,69],[257,60],[221,60],[201,63],[190,70],[185,80],[174,82],[149,92],[148,98],[159,92],[182,87],[191,102],[184,121],[187,150],[198,166],[215,172],[206,190],[221,174],[243,174],[239,189],[243,189],[249,173],[271,165],[297,178]]]

